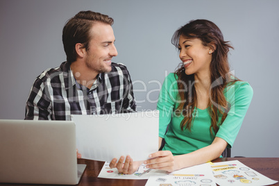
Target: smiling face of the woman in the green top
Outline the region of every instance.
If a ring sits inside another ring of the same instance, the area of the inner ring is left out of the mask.
[[[208,74],[212,59],[212,49],[203,46],[200,39],[189,39],[183,35],[179,38],[179,58],[185,67],[185,74]]]

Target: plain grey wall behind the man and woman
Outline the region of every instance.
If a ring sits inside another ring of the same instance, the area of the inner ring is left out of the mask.
[[[209,19],[235,47],[230,65],[254,96],[232,155],[279,157],[279,1],[0,1],[0,119],[23,119],[31,85],[44,69],[66,60],[62,28],[81,10],[115,19],[114,62],[134,82],[137,110],[154,110],[160,85],[178,63],[170,40],[191,19]]]

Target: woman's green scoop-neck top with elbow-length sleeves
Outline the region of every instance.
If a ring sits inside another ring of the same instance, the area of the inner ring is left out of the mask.
[[[166,144],[162,150],[171,151],[174,155],[191,153],[212,144],[214,137],[221,137],[231,148],[242,126],[248,107],[253,97],[253,89],[249,83],[236,81],[229,83],[223,94],[230,103],[230,111],[217,133],[210,133],[210,115],[208,109],[194,108],[191,131],[181,130],[183,115],[174,112],[179,105],[178,84],[175,74],[169,74],[162,85],[157,109],[160,110],[159,136]],[[186,91],[186,90],[183,90]],[[221,116],[219,117],[219,121]],[[168,127],[169,126],[169,127]],[[168,130],[167,130],[168,128]],[[167,131],[167,133],[166,133]]]

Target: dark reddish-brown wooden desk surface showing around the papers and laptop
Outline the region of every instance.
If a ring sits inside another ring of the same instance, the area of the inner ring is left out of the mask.
[[[260,172],[264,176],[267,176],[273,180],[279,180],[279,158],[217,158],[212,162],[223,162],[223,161],[231,161],[231,160],[239,160],[251,169]],[[83,177],[78,185],[121,185],[121,186],[144,186],[147,180],[119,180],[119,179],[105,179],[98,178],[99,172],[101,171],[104,162],[93,161],[93,160],[78,160],[79,164],[87,164]],[[6,184],[0,183],[2,185],[23,185],[23,184]],[[274,185],[279,185],[276,183]],[[26,184],[24,184],[26,186]]]

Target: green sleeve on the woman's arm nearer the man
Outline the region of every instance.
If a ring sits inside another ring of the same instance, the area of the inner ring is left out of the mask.
[[[160,111],[159,136],[162,138],[164,138],[167,126],[171,121],[171,116],[177,101],[177,93],[178,85],[176,75],[171,73],[164,79],[157,103],[157,110]]]

